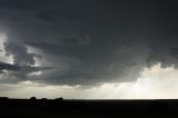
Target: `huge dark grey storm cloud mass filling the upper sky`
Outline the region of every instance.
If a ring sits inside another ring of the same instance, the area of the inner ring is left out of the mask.
[[[157,62],[177,67],[177,13],[174,0],[0,0],[0,30],[13,65],[31,67],[37,57],[48,60],[41,67],[53,67],[32,79],[20,70],[11,78],[96,85],[135,81]]]

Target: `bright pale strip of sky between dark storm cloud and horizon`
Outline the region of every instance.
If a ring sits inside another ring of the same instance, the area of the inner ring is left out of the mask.
[[[12,98],[66,99],[174,99],[178,98],[178,70],[161,68],[160,63],[145,68],[135,82],[103,83],[92,88],[80,86],[49,86],[32,81],[3,85],[1,96]],[[7,90],[6,90],[7,88]]]

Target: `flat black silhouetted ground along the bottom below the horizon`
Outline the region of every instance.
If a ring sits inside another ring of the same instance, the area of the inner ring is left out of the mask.
[[[0,98],[0,118],[177,118],[178,100],[63,100]]]

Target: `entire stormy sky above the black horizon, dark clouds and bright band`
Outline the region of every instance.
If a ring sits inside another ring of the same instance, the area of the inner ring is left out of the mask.
[[[0,96],[178,97],[176,0],[0,0]]]

